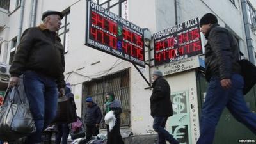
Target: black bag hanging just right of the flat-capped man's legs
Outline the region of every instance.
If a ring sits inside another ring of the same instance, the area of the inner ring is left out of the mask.
[[[76,122],[76,108],[72,97],[59,97],[57,115],[52,124],[64,124]]]

